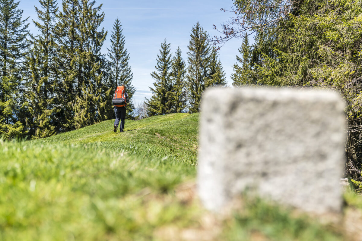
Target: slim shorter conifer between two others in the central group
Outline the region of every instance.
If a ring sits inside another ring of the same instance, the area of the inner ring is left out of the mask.
[[[176,113],[181,113],[186,108],[185,74],[185,61],[182,59],[180,46],[178,46],[171,63],[172,98],[175,106],[174,112]]]

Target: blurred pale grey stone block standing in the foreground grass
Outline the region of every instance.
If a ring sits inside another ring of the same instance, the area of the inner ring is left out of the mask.
[[[244,190],[304,211],[340,212],[345,103],[328,90],[209,89],[198,193],[220,211]]]

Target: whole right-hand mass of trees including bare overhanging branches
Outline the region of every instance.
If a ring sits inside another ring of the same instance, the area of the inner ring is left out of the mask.
[[[347,170],[362,164],[361,0],[234,0],[222,38],[244,38],[233,85],[332,88],[346,100]],[[254,44],[248,36],[253,34]],[[323,134],[323,133],[322,133]],[[362,183],[361,183],[362,184]]]

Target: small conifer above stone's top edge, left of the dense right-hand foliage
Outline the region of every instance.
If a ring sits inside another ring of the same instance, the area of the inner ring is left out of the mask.
[[[247,84],[255,84],[256,81],[252,78],[251,68],[251,46],[249,46],[248,36],[245,35],[241,47],[238,49],[239,53],[243,55],[241,59],[236,55],[237,63],[233,64],[233,73],[231,74],[232,85],[240,86]],[[240,64],[240,65],[239,65]]]

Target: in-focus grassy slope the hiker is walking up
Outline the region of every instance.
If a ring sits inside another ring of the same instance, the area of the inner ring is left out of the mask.
[[[126,120],[125,132],[113,132],[114,120],[63,133],[35,143],[65,143],[127,151],[140,158],[168,158],[195,165],[198,114],[177,113],[139,121]]]

